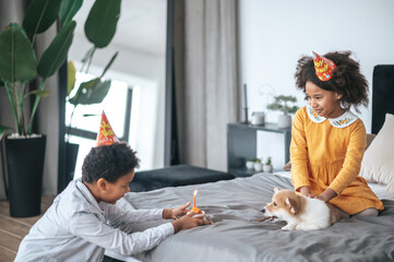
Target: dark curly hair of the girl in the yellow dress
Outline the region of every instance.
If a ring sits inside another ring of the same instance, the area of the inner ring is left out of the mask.
[[[360,112],[359,106],[368,106],[368,81],[360,72],[359,62],[350,58],[351,51],[327,52],[323,57],[336,64],[333,76],[329,81],[320,81],[314,71],[313,58],[302,56],[297,63],[295,73],[296,86],[306,93],[308,81],[322,90],[333,91],[343,95],[341,104],[344,108],[355,107]]]

